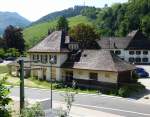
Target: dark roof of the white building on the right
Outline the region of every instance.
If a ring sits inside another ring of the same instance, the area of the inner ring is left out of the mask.
[[[97,43],[102,49],[150,49],[150,39],[137,30],[127,37],[102,37]]]

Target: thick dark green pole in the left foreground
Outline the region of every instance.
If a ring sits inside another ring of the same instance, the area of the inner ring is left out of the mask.
[[[20,113],[22,112],[22,109],[24,108],[24,61],[19,60],[18,61],[20,65]]]

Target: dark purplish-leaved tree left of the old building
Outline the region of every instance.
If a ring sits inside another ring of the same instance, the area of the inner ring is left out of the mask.
[[[25,41],[21,28],[8,26],[4,32],[4,39],[6,39],[8,48],[16,48],[21,53],[25,50]]]

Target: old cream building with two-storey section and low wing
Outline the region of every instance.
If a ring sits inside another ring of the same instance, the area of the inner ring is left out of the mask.
[[[110,52],[110,48],[80,50],[78,43],[62,31],[51,33],[28,53],[30,61],[37,61],[30,62],[31,76],[68,84],[76,81],[85,87],[129,82],[135,68]]]

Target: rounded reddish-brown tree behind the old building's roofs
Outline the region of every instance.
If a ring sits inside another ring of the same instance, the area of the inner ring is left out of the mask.
[[[98,48],[95,45],[95,40],[98,39],[98,35],[90,25],[78,24],[69,31],[69,35],[79,42],[82,49]]]

